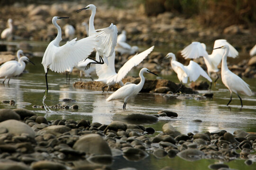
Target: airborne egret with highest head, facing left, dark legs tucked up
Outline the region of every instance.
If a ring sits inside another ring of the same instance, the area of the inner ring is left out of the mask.
[[[90,68],[90,65],[93,64],[104,64],[104,62],[108,65],[108,57],[110,57],[117,45],[117,26],[110,24],[109,27],[95,30],[94,28],[94,17],[96,14],[96,7],[93,4],[88,5],[85,8],[79,9],[76,12],[81,12],[82,10],[91,10],[91,17],[89,20],[89,36],[95,35],[98,39],[97,47],[96,47],[96,56],[99,55],[99,61],[93,60],[93,62],[88,64],[87,68]],[[103,59],[102,59],[103,57]],[[91,59],[90,57],[88,57]]]

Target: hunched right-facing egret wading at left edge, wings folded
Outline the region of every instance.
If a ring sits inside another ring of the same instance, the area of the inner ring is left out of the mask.
[[[24,71],[26,66],[26,63],[24,61],[28,61],[34,64],[26,56],[21,57],[20,59],[18,59],[18,61],[14,61],[14,60],[7,61],[0,66],[0,77],[5,77],[4,81],[7,78],[9,78],[8,80],[8,84],[9,84],[10,77],[18,76]],[[4,84],[4,81],[3,81],[3,84]]]

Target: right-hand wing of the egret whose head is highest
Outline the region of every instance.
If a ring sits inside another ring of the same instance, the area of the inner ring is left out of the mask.
[[[115,46],[117,45],[117,26],[111,23],[109,27],[96,31],[99,31],[96,34],[96,37],[100,40],[101,48],[104,49],[103,52],[105,53],[105,56],[110,57],[115,50]]]

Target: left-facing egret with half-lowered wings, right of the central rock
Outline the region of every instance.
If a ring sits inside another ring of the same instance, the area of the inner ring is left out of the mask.
[[[199,76],[203,76],[208,81],[212,82],[210,76],[208,76],[207,73],[196,62],[190,60],[189,65],[184,66],[182,63],[176,61],[176,57],[172,52],[169,52],[165,58],[172,58],[171,66],[174,72],[177,74],[181,86],[182,83],[186,84],[188,82],[188,78],[190,81],[196,81]]]

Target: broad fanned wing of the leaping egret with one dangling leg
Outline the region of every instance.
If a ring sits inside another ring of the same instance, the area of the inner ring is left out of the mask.
[[[47,54],[52,55],[49,56],[52,57],[49,68],[55,72],[64,72],[67,68],[73,67],[79,61],[88,57],[96,47],[96,42],[95,36],[89,36],[79,41],[76,41],[75,38],[61,47],[51,46],[53,49],[50,51],[53,53],[51,54],[49,53],[50,51],[48,51]]]

